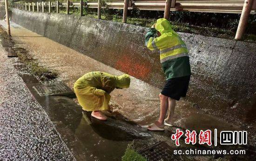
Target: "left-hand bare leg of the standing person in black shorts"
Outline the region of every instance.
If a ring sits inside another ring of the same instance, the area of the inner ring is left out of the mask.
[[[155,125],[162,128],[164,127],[164,118],[168,109],[168,97],[162,94],[159,94],[160,97],[160,117],[158,121],[155,122]]]

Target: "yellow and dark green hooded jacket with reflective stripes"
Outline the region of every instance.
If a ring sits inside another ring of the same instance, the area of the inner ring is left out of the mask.
[[[160,37],[155,37],[156,31],[161,33]],[[157,19],[155,28],[146,34],[145,45],[149,50],[159,50],[166,80],[191,75],[187,46],[167,19]]]

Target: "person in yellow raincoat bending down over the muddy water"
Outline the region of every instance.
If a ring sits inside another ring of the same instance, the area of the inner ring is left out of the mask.
[[[84,111],[92,111],[92,116],[101,120],[107,117],[101,112],[108,110],[110,93],[115,89],[128,88],[130,76],[120,76],[105,72],[89,72],[74,83],[74,93]]]

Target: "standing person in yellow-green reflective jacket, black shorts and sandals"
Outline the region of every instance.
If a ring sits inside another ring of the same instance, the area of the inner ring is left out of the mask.
[[[156,33],[158,37],[155,37]],[[148,130],[164,130],[164,125],[173,126],[176,100],[185,97],[188,91],[191,75],[188,49],[167,19],[157,19],[146,34],[145,44],[149,50],[159,50],[166,77],[166,84],[159,94],[160,117],[148,126]],[[168,117],[164,119],[167,110]]]

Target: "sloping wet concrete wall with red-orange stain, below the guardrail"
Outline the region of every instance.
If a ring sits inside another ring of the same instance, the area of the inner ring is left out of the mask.
[[[145,27],[74,15],[12,11],[13,22],[28,30],[155,87],[164,85],[159,54],[144,45]],[[241,109],[252,111],[256,98],[256,43],[179,34],[189,48],[193,72],[188,99],[203,108],[225,109],[250,100]]]

